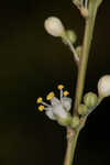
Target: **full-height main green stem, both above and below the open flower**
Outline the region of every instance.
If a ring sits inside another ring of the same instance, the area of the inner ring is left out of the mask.
[[[101,0],[100,0],[100,2],[101,2]],[[99,0],[89,1],[89,7],[88,7],[89,16],[86,18],[85,35],[84,35],[84,42],[82,42],[82,52],[81,52],[81,57],[79,61],[79,68],[78,68],[74,116],[77,114],[77,109],[78,109],[78,106],[80,105],[81,98],[82,98],[88,56],[89,56],[89,52],[90,52],[90,45],[91,45],[95,20],[96,20],[98,7],[99,7]],[[75,135],[72,139],[67,140],[67,150],[66,150],[64,165],[72,165],[73,164],[74,155],[75,155],[75,148],[76,148],[76,144],[77,144],[77,139],[78,139],[80,130],[85,125],[85,122],[86,122],[86,120],[84,120],[84,123],[80,124],[80,129],[77,130]]]

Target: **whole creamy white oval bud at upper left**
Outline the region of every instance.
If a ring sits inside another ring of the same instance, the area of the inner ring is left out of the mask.
[[[65,33],[62,21],[55,16],[47,18],[44,22],[44,28],[53,36],[62,36]]]

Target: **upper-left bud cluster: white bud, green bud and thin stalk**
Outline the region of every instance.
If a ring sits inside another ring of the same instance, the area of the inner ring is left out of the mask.
[[[46,32],[55,37],[61,37],[65,45],[68,45],[73,52],[76,63],[79,63],[79,57],[76,53],[75,44],[77,36],[73,30],[66,30],[62,21],[56,16],[50,16],[44,22]]]

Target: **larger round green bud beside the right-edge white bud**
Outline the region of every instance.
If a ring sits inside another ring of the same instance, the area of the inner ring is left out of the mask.
[[[94,92],[88,92],[84,96],[84,103],[91,108],[91,107],[95,107],[98,102],[98,97],[96,94]]]

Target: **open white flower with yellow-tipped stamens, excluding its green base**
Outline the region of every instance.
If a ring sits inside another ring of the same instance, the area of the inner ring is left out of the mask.
[[[68,111],[72,108],[72,99],[67,97],[68,91],[63,91],[63,85],[58,86],[61,99],[57,99],[53,91],[47,95],[46,99],[51,101],[51,105],[44,102],[42,98],[37,99],[37,103],[42,103],[38,106],[38,110],[45,110],[45,114],[52,120],[57,120],[57,117],[66,119],[68,117]]]

